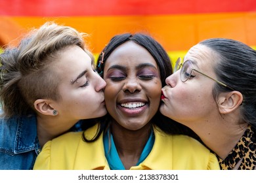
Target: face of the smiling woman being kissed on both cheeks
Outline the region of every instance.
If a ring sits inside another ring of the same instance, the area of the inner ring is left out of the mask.
[[[160,72],[150,53],[135,42],[121,44],[104,67],[105,103],[110,115],[125,129],[148,124],[158,111]]]

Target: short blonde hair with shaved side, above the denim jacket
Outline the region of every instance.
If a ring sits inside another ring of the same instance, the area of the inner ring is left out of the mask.
[[[84,33],[52,22],[33,29],[16,48],[6,48],[0,56],[0,99],[4,116],[33,113],[36,99],[60,99],[59,76],[49,66],[67,46],[79,46],[89,56]]]

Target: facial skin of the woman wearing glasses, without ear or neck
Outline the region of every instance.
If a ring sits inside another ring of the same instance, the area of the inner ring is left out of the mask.
[[[213,63],[207,61],[211,57],[208,56],[209,52],[193,54],[200,50],[201,48],[192,48],[184,60],[190,59],[196,69],[216,78],[211,69]],[[160,108],[164,115],[172,116],[174,120],[179,120],[186,125],[202,120],[202,118],[207,119],[207,116],[215,115],[217,112],[217,110],[212,110],[212,108],[216,108],[211,93],[215,82],[195,71],[192,72],[192,75],[195,77],[182,82],[179,70],[166,78],[165,82],[168,86],[163,88],[163,93],[168,100],[163,99],[164,105]]]

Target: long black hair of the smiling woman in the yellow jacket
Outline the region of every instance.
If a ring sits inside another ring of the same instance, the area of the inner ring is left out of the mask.
[[[155,59],[158,68],[160,70],[160,76],[161,76],[161,84],[162,86],[165,86],[165,78],[167,76],[171,75],[173,73],[173,67],[171,65],[171,60],[167,54],[167,52],[164,50],[163,46],[156,40],[154,40],[150,35],[142,34],[142,33],[125,33],[121,35],[114,36],[110,42],[106,45],[106,47],[102,50],[100,56],[98,57],[97,63],[96,63],[96,70],[98,73],[103,77],[104,72],[104,65],[106,63],[106,60],[112,54],[114,50],[121,44],[127,42],[127,41],[133,41],[146,50],[150,52],[150,54]],[[100,133],[106,129],[110,122],[111,116],[110,114],[106,114],[102,120],[100,120],[100,127],[98,129],[98,133],[95,135],[95,137],[91,140],[88,140],[85,138],[85,135],[83,135],[83,139],[85,141],[95,141],[100,136]],[[158,112],[156,115],[152,118],[152,123],[156,125],[159,129],[164,131],[165,133],[169,134],[187,134],[190,136],[197,137],[194,132],[192,132],[188,127],[179,124],[170,118],[167,118],[166,116],[163,116],[163,114]]]

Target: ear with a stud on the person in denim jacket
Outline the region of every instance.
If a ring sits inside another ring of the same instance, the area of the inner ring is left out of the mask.
[[[35,110],[37,110],[37,112],[40,112],[44,115],[56,116],[58,114],[58,112],[54,110],[53,107],[51,107],[50,101],[46,99],[37,99],[33,103],[33,106],[35,107]]]

